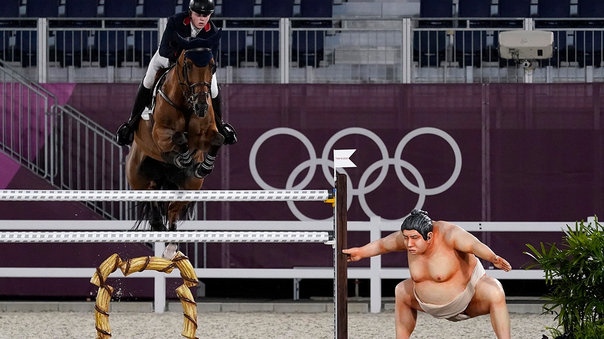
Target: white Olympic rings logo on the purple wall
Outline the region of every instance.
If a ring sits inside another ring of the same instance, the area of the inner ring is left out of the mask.
[[[284,188],[273,187],[273,186],[269,185],[268,183],[266,183],[262,179],[260,174],[258,173],[258,168],[256,167],[256,157],[257,157],[258,151],[259,151],[260,147],[262,146],[262,144],[269,138],[272,138],[272,137],[278,136],[278,135],[289,135],[289,136],[293,136],[294,138],[297,138],[300,142],[302,142],[304,147],[306,147],[306,150],[308,151],[308,156],[309,156],[309,160],[305,160],[305,161],[301,162],[298,166],[296,166],[294,168],[294,170],[292,170],[292,173],[289,174],[288,180],[286,182],[286,187],[284,187]],[[332,138],[330,138],[329,141],[327,141],[325,147],[323,148],[323,153],[321,154],[321,157],[318,158],[315,153],[315,148],[313,148],[312,143],[310,142],[310,140],[308,138],[306,138],[305,135],[300,133],[300,131],[294,130],[292,128],[280,127],[280,128],[273,128],[272,130],[266,131],[265,133],[263,133],[263,135],[260,136],[260,138],[258,138],[254,142],[254,145],[252,145],[252,149],[249,153],[249,169],[251,171],[252,177],[254,178],[255,182],[262,189],[266,189],[266,190],[278,190],[278,189],[301,190],[301,189],[306,188],[306,186],[310,183],[310,180],[312,180],[313,176],[315,176],[316,167],[318,165],[321,165],[321,170],[323,171],[325,179],[327,180],[327,182],[333,183],[333,171],[330,171],[330,168],[333,170],[333,160],[329,159],[329,155],[332,153],[333,145],[335,145],[336,141],[338,141],[340,138],[342,138],[344,136],[348,136],[348,135],[361,135],[361,136],[366,136],[367,138],[370,138],[373,142],[375,142],[375,144],[379,148],[379,151],[382,155],[382,160],[377,160],[376,162],[374,162],[373,164],[368,166],[367,170],[365,170],[365,172],[362,174],[361,179],[359,179],[359,184],[358,184],[357,188],[353,187],[350,176],[347,175],[347,178],[348,178],[347,186],[349,188],[348,189],[349,196],[347,197],[349,206],[347,206],[347,208],[350,208],[350,204],[352,203],[352,197],[356,195],[359,198],[359,203],[361,204],[361,208],[362,208],[363,212],[365,212],[365,214],[368,217],[376,217],[377,215],[373,211],[371,211],[371,208],[369,207],[369,205],[367,204],[367,201],[365,200],[365,194],[372,192],[374,189],[379,187],[382,184],[382,182],[384,182],[384,179],[388,173],[388,166],[390,166],[390,165],[394,166],[394,170],[396,171],[396,176],[398,177],[400,183],[402,183],[405,186],[405,188],[409,189],[411,192],[414,192],[418,195],[417,203],[414,208],[422,208],[423,203],[425,202],[426,196],[440,194],[442,192],[445,192],[447,189],[449,189],[455,183],[455,181],[457,181],[457,178],[459,177],[459,174],[461,172],[460,148],[457,145],[457,142],[455,142],[455,140],[448,133],[446,133],[443,130],[440,130],[439,128],[422,127],[422,128],[417,128],[416,130],[410,131],[407,135],[405,135],[400,140],[399,144],[396,147],[396,150],[394,151],[393,157],[390,157],[390,155],[388,154],[388,150],[386,148],[386,145],[382,141],[382,139],[380,139],[379,136],[377,136],[372,131],[367,130],[365,128],[361,128],[361,127],[345,128],[344,130],[341,130],[338,133],[335,133],[335,135],[333,135]],[[434,187],[434,188],[426,188],[426,183],[423,180],[422,174],[419,173],[417,168],[415,166],[411,165],[410,162],[400,159],[400,157],[403,153],[403,149],[408,144],[408,142],[411,141],[411,139],[415,138],[416,136],[420,136],[420,135],[439,136],[440,138],[442,138],[446,142],[448,142],[449,146],[451,146],[451,150],[453,151],[453,153],[455,155],[455,166],[453,169],[453,173],[451,174],[451,177],[449,177],[449,179],[442,185]],[[300,174],[306,168],[309,169],[308,173],[306,174],[306,177],[304,177],[304,179],[301,180],[300,183],[298,183],[297,185],[294,185],[294,180],[298,177],[298,174]],[[405,177],[405,174],[402,171],[403,168],[405,170],[409,171],[411,173],[411,175],[413,175],[414,179],[417,182],[417,185],[410,182]],[[368,184],[367,180],[369,179],[370,175],[378,169],[380,170],[379,175],[372,183]],[[338,170],[343,171],[345,173],[344,168],[340,168]],[[289,209],[291,210],[291,212],[295,215],[295,217],[298,218],[298,220],[303,220],[303,221],[315,220],[313,218],[309,218],[306,215],[302,214],[298,210],[298,208],[296,208],[294,201],[288,201],[288,206],[289,206]],[[391,221],[402,221],[405,217],[406,217],[406,215],[400,219],[391,220]],[[327,218],[326,220],[330,220],[330,218]]]

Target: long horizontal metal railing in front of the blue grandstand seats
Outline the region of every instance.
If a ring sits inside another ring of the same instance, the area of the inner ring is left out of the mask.
[[[0,19],[1,21],[2,19]],[[14,20],[14,19],[13,19]],[[594,19],[214,17],[222,83],[555,83],[604,80]],[[601,21],[601,20],[600,20]],[[165,19],[19,19],[4,59],[40,82],[139,82]],[[555,23],[555,24],[554,24]],[[498,55],[498,33],[555,33],[530,69]],[[45,37],[37,39],[36,37]]]

